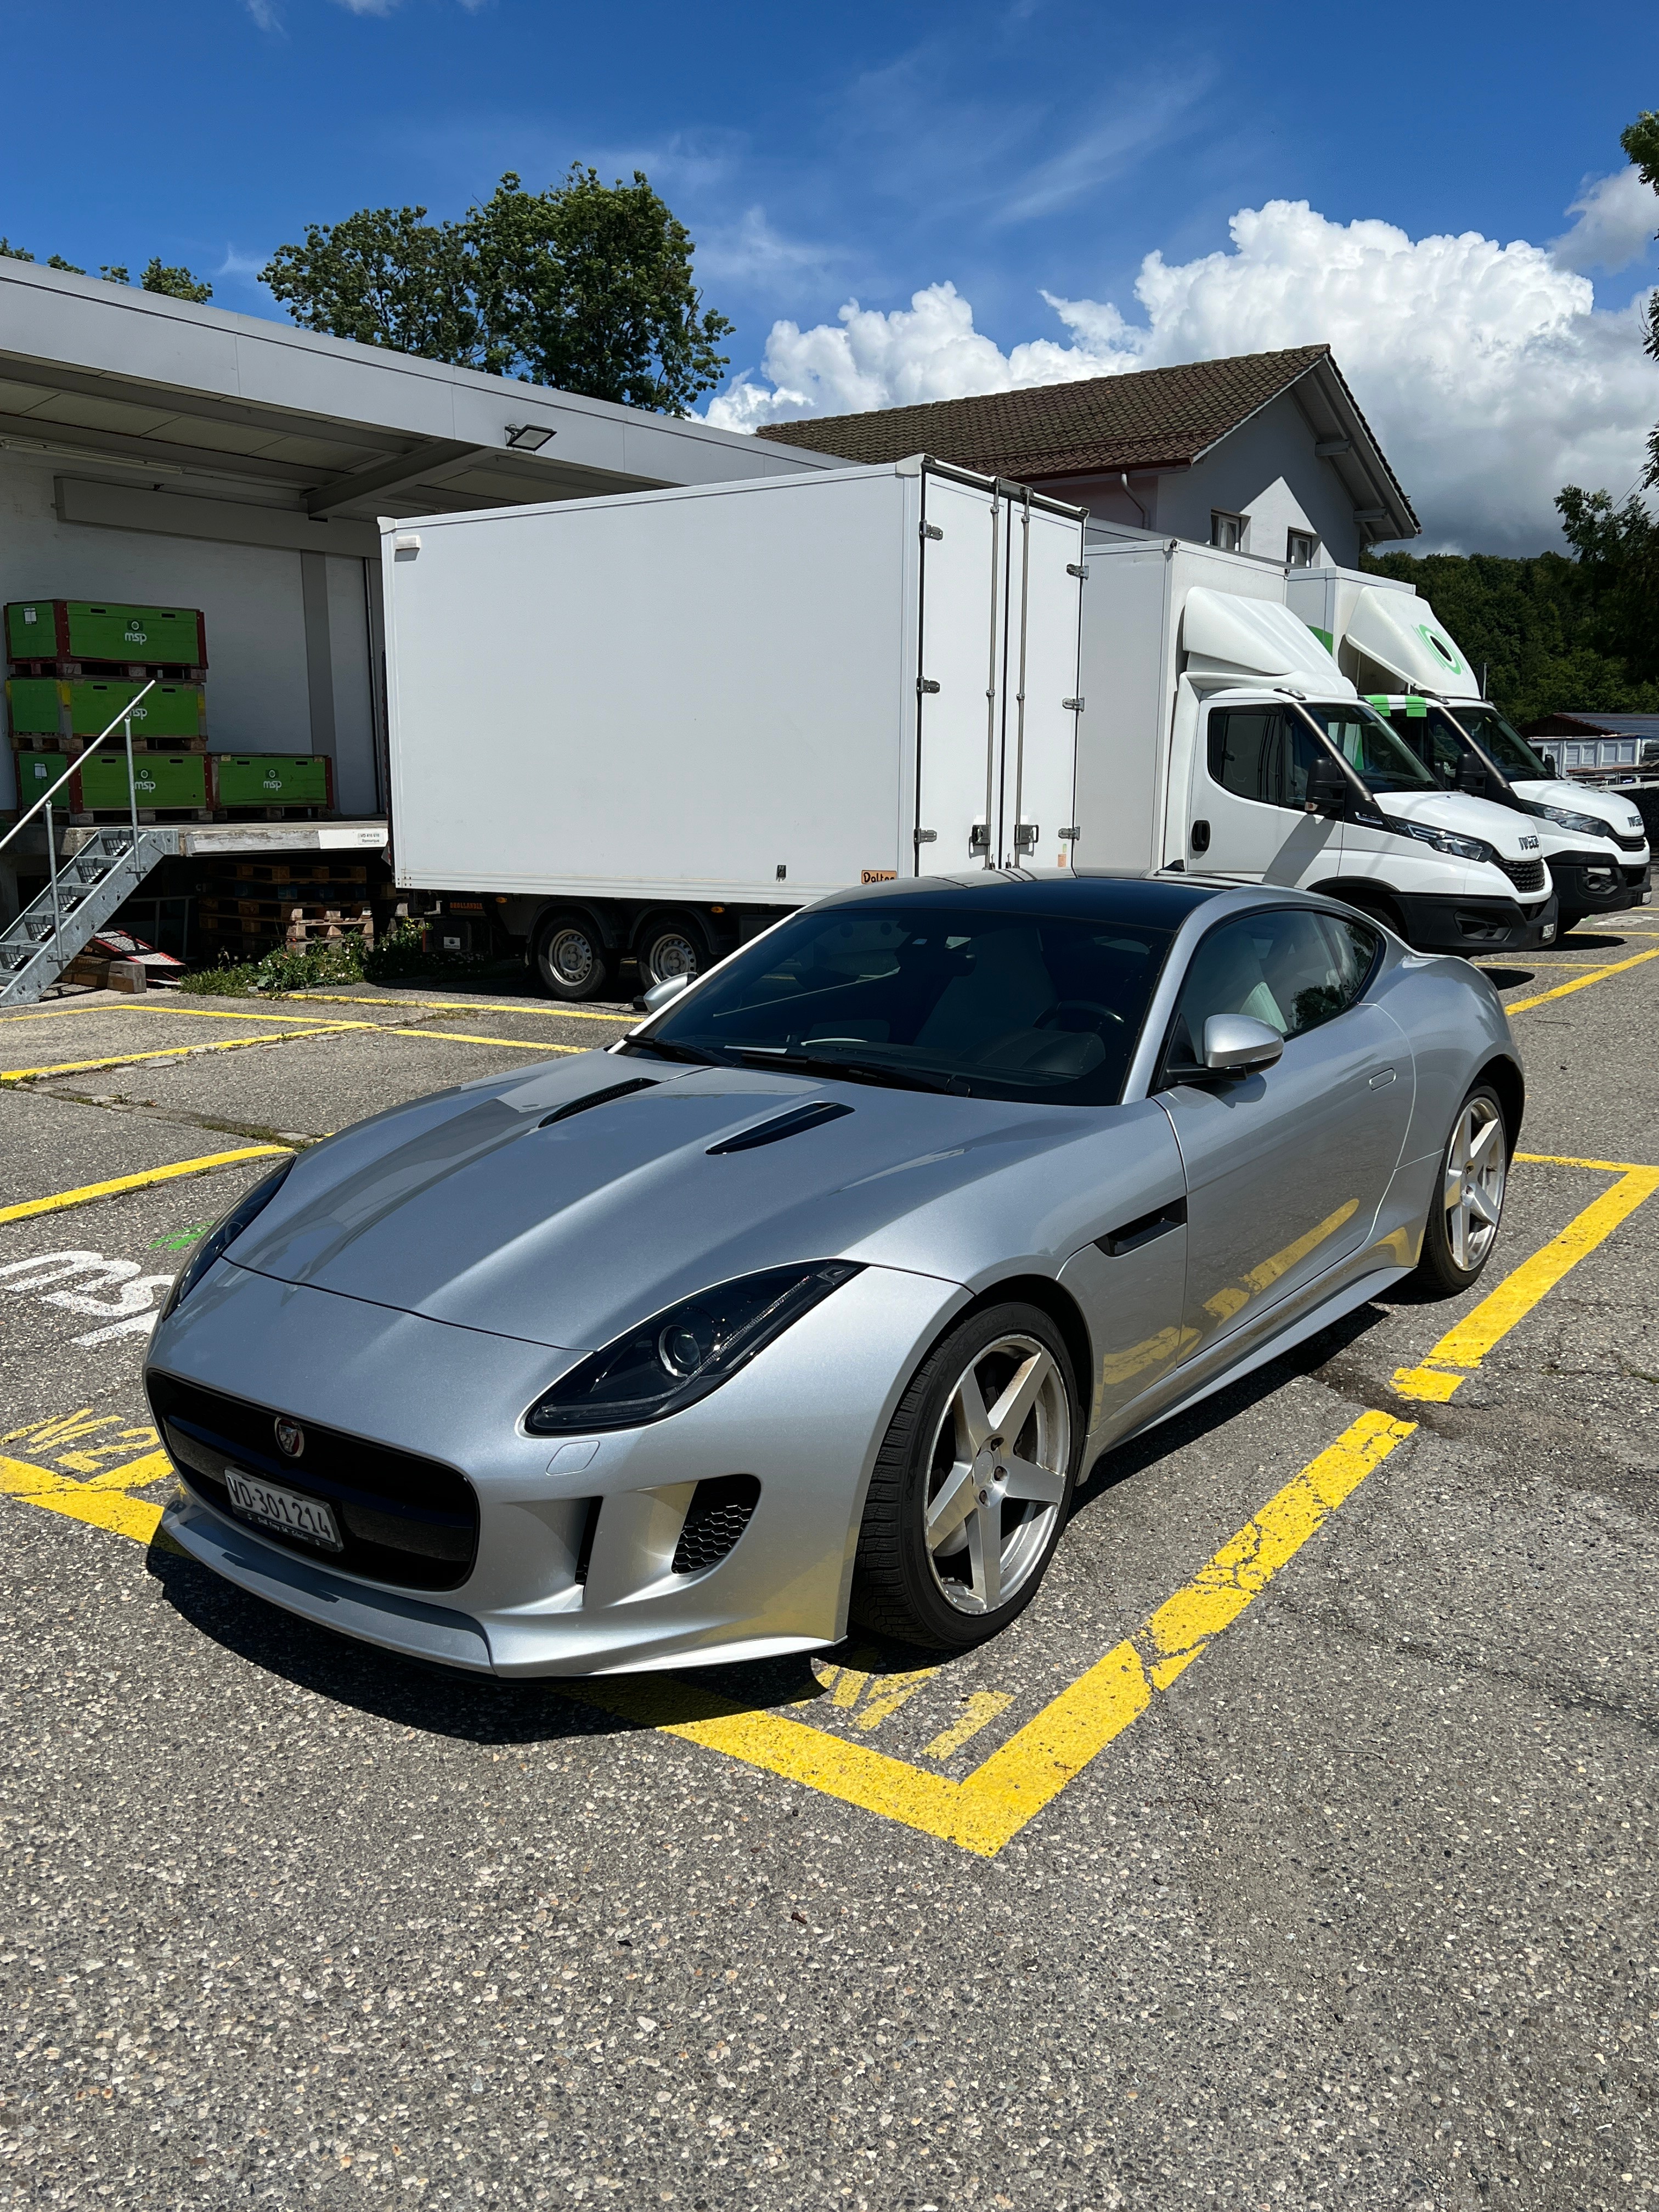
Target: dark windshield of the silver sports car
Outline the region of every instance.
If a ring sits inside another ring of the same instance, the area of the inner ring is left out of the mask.
[[[807,907],[624,1051],[1110,1106],[1168,945],[1164,929],[991,905]]]

